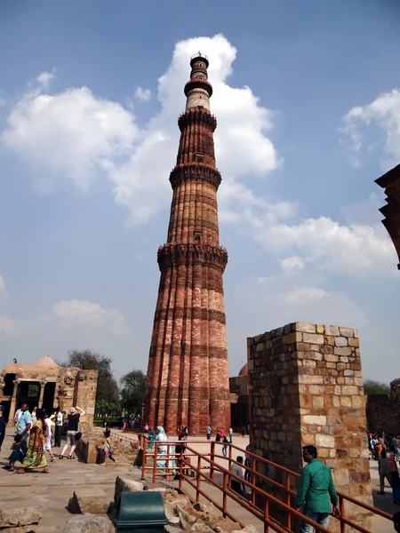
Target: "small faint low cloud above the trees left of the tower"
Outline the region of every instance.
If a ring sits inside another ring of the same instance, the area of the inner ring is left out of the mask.
[[[106,328],[115,335],[127,330],[124,316],[117,309],[104,309],[100,304],[84,300],[72,299],[55,304],[50,317],[68,329],[76,325]]]

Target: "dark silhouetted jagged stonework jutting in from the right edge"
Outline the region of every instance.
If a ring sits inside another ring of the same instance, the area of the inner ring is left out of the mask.
[[[380,208],[380,212],[385,217],[382,220],[383,226],[388,230],[388,235],[395,245],[399,258],[397,268],[400,269],[400,164],[375,179],[375,182],[385,189],[388,196],[387,204]]]

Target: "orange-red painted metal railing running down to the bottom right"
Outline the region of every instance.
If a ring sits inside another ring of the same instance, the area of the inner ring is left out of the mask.
[[[284,466],[277,465],[268,459],[257,456],[254,453],[240,449],[234,444],[226,444],[228,446],[228,457],[223,457],[219,453],[219,448],[223,445],[220,442],[210,442],[210,453],[209,454],[200,454],[196,449],[192,448],[192,445],[202,441],[154,441],[152,444],[154,447],[148,449],[148,440],[144,435],[140,436],[140,447],[143,449],[143,462],[141,466],[141,477],[145,479],[146,472],[151,471],[152,481],[155,482],[156,479],[173,479],[178,477],[179,479],[179,488],[184,492],[192,501],[199,501],[200,496],[205,497],[207,500],[212,502],[217,509],[220,510],[223,516],[228,516],[233,521],[237,521],[235,516],[228,511],[228,497],[236,501],[238,504],[242,505],[254,516],[259,518],[264,522],[264,532],[268,533],[269,528],[272,528],[276,533],[289,533],[293,532],[292,521],[293,519],[299,519],[305,522],[308,522],[317,531],[321,533],[332,533],[332,529],[326,529],[318,525],[315,521],[312,521],[310,518],[304,514],[296,511],[294,508],[294,497],[296,492],[292,489],[296,481],[300,478],[300,473],[293,472]],[[175,445],[183,446],[180,449],[180,453],[174,453]],[[158,452],[159,446],[166,446],[167,453],[160,454]],[[232,457],[233,453],[236,452],[236,455],[249,455],[252,457],[252,466],[247,467],[241,463],[238,463],[236,459]],[[150,460],[149,460],[150,459]],[[226,459],[228,461],[228,467],[224,467],[216,462],[216,459]],[[157,460],[159,465],[157,466]],[[282,473],[284,478],[284,483],[276,481],[275,479],[268,477],[262,473],[257,472],[260,464],[267,466],[272,466],[276,471]],[[238,477],[235,473],[231,472],[232,465],[240,465],[244,471],[247,471],[250,474],[250,481],[246,481],[243,478]],[[195,474],[195,477],[188,475],[188,471],[191,471]],[[215,474],[218,473],[222,475],[222,482],[215,480]],[[178,475],[177,475],[178,474]],[[236,480],[242,483],[243,486],[247,487],[250,490],[250,499],[246,499],[238,495],[234,490],[230,488],[230,481]],[[212,499],[207,493],[207,490],[201,488],[201,481],[207,481],[211,483],[212,486],[220,489],[222,503],[218,503]],[[279,497],[276,495],[267,492],[266,490],[260,489],[260,481],[266,481],[270,484],[276,491],[279,493]],[[188,491],[184,489],[184,482],[188,483],[192,489],[196,490],[196,498],[194,499],[188,494]],[[340,516],[335,516],[332,520],[340,521],[340,533],[346,533],[346,527],[350,527],[359,531],[360,533],[372,533],[370,529],[365,529],[363,525],[357,524],[354,521],[351,521],[346,517],[346,503],[351,505],[356,505],[360,512],[372,513],[372,515],[380,515],[381,517],[392,521],[392,515],[380,511],[372,505],[364,504],[357,500],[354,497],[348,496],[338,492],[339,497],[339,508]],[[259,501],[262,501],[263,504],[260,506]],[[279,511],[281,515],[284,516],[284,519],[277,521],[274,516],[271,515],[271,508],[274,507]],[[239,521],[241,527],[244,527]],[[393,522],[389,525],[388,530],[393,527]]]

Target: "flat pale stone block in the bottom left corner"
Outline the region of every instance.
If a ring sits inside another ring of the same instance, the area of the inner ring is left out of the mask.
[[[35,531],[43,515],[40,507],[29,507],[24,502],[2,502],[0,504],[0,530],[7,533]]]

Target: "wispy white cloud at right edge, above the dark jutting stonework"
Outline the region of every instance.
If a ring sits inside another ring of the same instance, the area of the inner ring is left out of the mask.
[[[374,136],[368,135],[371,126],[378,127]],[[365,145],[367,151],[380,146],[383,151],[381,166],[388,171],[400,159],[400,90],[385,92],[366,106],[350,109],[342,118],[342,131],[350,139],[356,166],[361,164]]]

